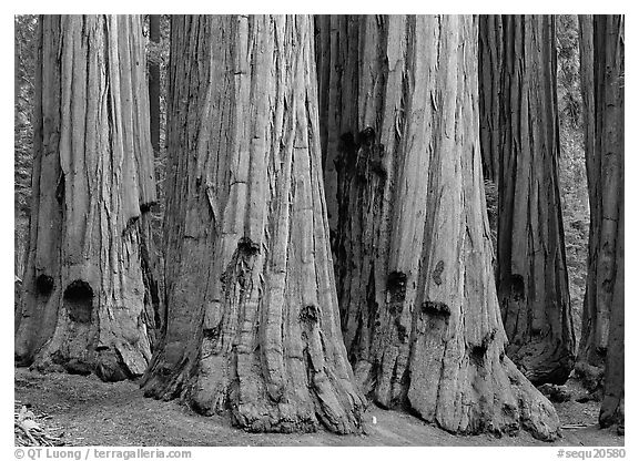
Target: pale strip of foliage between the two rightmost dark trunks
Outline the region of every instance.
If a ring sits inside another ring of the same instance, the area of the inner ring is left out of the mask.
[[[557,18],[557,98],[559,103],[559,182],[566,236],[566,264],[577,341],[588,272],[588,184],[584,154],[581,81],[579,76],[578,19]]]

